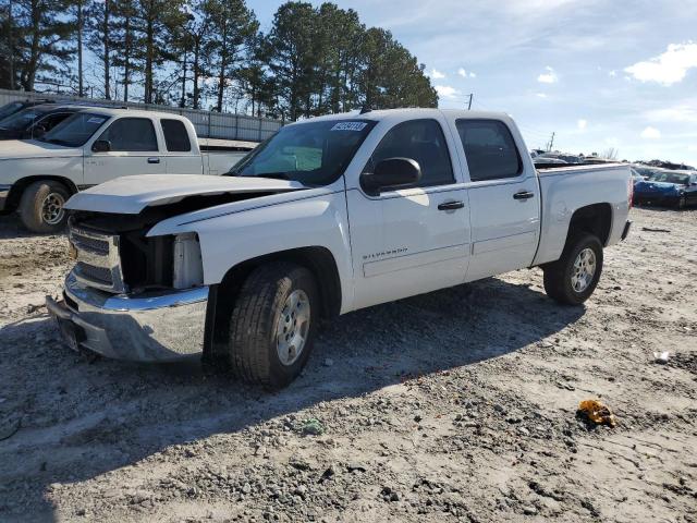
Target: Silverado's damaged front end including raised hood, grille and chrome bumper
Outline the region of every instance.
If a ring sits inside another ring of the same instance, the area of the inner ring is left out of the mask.
[[[125,177],[66,204],[75,266],[63,299],[47,297],[65,341],[119,360],[172,361],[204,350],[211,289],[195,232],[148,235],[158,223],[298,191],[278,180]]]

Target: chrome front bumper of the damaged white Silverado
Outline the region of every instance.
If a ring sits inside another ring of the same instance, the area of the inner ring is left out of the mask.
[[[171,362],[200,354],[208,288],[127,297],[88,288],[71,273],[64,300],[46,297],[65,342],[115,360]]]

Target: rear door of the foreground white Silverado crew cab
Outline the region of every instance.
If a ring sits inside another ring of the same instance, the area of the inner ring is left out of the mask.
[[[508,122],[452,117],[469,177],[472,259],[467,280],[529,266],[540,227],[540,191]],[[517,136],[517,133],[516,133]]]

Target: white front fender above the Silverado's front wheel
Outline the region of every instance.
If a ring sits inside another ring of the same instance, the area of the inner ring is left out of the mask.
[[[169,219],[155,226],[148,236],[195,232],[200,242],[204,283],[220,283],[234,266],[248,259],[294,248],[329,250],[341,281],[341,312],[353,303],[351,243],[343,191],[307,196],[274,205],[248,208],[193,222]]]

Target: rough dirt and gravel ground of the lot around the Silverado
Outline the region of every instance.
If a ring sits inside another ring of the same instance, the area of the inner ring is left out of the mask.
[[[276,394],[72,353],[65,240],[3,219],[0,520],[697,522],[697,210],[633,219],[586,307],[523,270],[354,313]]]

